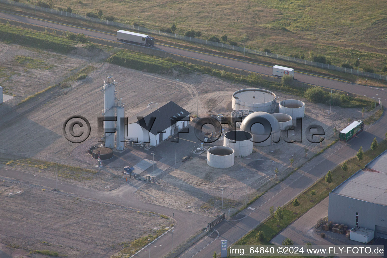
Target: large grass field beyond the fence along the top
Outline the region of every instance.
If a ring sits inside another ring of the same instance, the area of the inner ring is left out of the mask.
[[[384,5],[382,0],[53,1],[54,8],[69,6],[78,14],[101,9],[116,21],[139,22],[152,29],[163,30],[174,22],[177,33],[200,30],[205,39],[227,34],[230,40],[243,45],[245,37],[246,46],[268,48],[283,55],[308,57],[312,50],[326,55],[335,65],[360,58],[360,67],[370,65],[377,72],[387,64]]]

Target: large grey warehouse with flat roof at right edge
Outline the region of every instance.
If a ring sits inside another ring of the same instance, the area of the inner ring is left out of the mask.
[[[387,152],[329,193],[328,219],[387,239]]]

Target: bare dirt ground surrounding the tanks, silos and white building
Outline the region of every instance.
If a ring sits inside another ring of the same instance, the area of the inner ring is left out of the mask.
[[[10,50],[13,50],[14,53]],[[13,45],[8,46],[8,50],[3,55],[8,55],[9,60],[14,60],[17,50]],[[24,55],[27,56],[27,54]],[[31,52],[28,55],[37,58],[38,55],[43,54]],[[55,65],[59,58],[57,54],[48,52],[47,55],[45,60],[51,60],[50,62]],[[50,55],[55,55],[55,57],[50,57]],[[110,186],[110,190],[115,189],[123,183],[118,176],[122,173],[123,166],[134,166],[143,159],[152,159],[152,156],[150,152],[128,148],[123,153],[114,152],[115,156],[111,161],[104,162],[103,168],[96,169],[96,161],[87,155],[87,147],[95,145],[99,138],[97,117],[100,116],[100,111],[103,109],[101,87],[107,74],[112,75],[113,79],[118,82],[116,90],[118,97],[122,98],[123,103],[125,103],[125,115],[128,117],[146,108],[146,104],[150,102],[161,103],[169,100],[179,104],[192,114],[198,112],[199,116],[206,115],[208,110],[229,114],[232,93],[238,89],[249,87],[200,73],[188,75],[174,73],[171,76],[161,76],[140,72],[117,65],[96,62],[96,58],[80,56],[75,53],[69,55],[67,59],[62,57],[60,62],[74,63],[74,58],[77,59],[81,67],[85,65],[85,62],[93,61],[92,65],[97,69],[88,74],[86,79],[73,83],[70,88],[51,89],[20,106],[10,106],[7,102],[0,106],[0,112],[10,108],[12,110],[3,115],[0,123],[0,134],[3,136],[0,153],[2,153],[3,165],[7,161],[17,159],[19,161],[15,161],[9,166],[24,171],[26,167],[29,167],[28,172],[30,173],[40,173],[43,176],[53,178],[55,176],[53,164],[58,161],[59,164],[84,169],[82,171],[69,171],[71,169],[60,167],[58,174],[61,180],[68,180],[74,184],[91,188],[104,189],[107,185]],[[68,67],[66,69],[72,67],[70,64],[66,65],[63,65],[63,67]],[[24,68],[19,67],[18,69],[23,70]],[[55,69],[51,70],[55,71]],[[39,76],[38,72],[40,70],[36,72],[36,76]],[[39,85],[39,81],[34,82],[34,84]],[[15,88],[15,91],[24,92],[20,85],[17,87],[20,89]],[[38,86],[35,87],[38,89]],[[300,99],[283,92],[275,93],[280,100]],[[329,106],[309,103],[305,99],[301,100],[306,103],[303,128],[317,123],[322,125],[325,130],[326,137],[322,147],[332,142],[332,129],[334,127],[341,130],[347,125],[346,119],[348,117],[351,117],[352,120],[361,118],[360,108],[332,107],[332,113],[328,115]],[[63,137],[63,122],[73,114],[84,116],[91,124],[90,137],[81,144],[70,143]],[[365,117],[370,114],[366,112]],[[223,142],[218,140],[213,145],[223,145]],[[152,150],[157,152],[162,146],[163,144]],[[223,188],[223,197],[228,202],[226,206],[232,213],[233,209],[237,209],[245,202],[246,195],[253,196],[257,193],[257,189],[269,182],[276,181],[274,178],[276,167],[279,169],[277,179],[280,179],[291,170],[289,167],[290,158],[295,159],[293,167],[298,167],[307,161],[305,146],[308,146],[310,150],[309,157],[321,149],[320,144],[309,144],[305,139],[304,131],[302,143],[289,144],[281,140],[272,146],[254,147],[253,154],[249,155],[248,159],[236,158],[235,165],[224,170],[208,167],[205,164],[206,154],[194,156],[186,163],[170,167],[170,165],[166,165],[167,162],[162,163],[161,161],[163,159],[174,160],[175,155],[172,151],[165,151],[158,157],[155,156],[155,166],[156,168],[160,167],[157,179],[161,181],[161,184],[144,185],[144,191],[137,193],[137,197],[148,202],[182,210],[214,215],[221,209],[221,204],[217,205],[217,203],[222,197],[221,189]],[[190,154],[190,149],[184,151]],[[42,160],[42,162],[26,162],[25,158]],[[161,169],[161,167],[163,168]],[[247,181],[246,178],[249,180]],[[152,200],[149,197],[151,195],[159,197],[157,200]]]

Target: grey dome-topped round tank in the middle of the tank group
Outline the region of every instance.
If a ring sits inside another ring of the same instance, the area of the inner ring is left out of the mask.
[[[279,142],[281,127],[277,118],[266,112],[251,113],[243,119],[241,130],[252,133],[253,145],[267,146]]]

